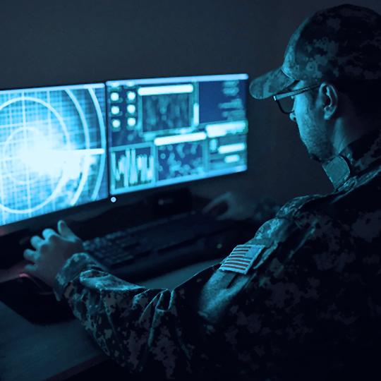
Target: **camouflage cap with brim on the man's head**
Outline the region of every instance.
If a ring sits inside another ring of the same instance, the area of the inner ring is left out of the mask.
[[[296,29],[280,68],[255,78],[250,93],[271,97],[296,80],[380,80],[381,16],[344,4],[318,11]]]

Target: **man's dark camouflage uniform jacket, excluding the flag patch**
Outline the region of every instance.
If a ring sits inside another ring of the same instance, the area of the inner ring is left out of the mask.
[[[380,130],[341,155],[349,179],[263,224],[249,243],[265,250],[248,274],[215,265],[173,291],[146,289],[80,253],[57,276],[56,295],[104,353],[144,379],[377,379]]]

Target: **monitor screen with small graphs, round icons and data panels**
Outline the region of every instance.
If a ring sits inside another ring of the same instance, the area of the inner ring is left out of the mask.
[[[111,195],[245,171],[247,80],[107,82]]]

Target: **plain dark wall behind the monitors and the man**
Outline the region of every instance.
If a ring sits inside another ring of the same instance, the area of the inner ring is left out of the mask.
[[[313,11],[342,1],[2,1],[0,88],[118,78],[246,72],[282,63],[286,43]],[[380,0],[353,1],[381,12]],[[330,185],[271,100],[249,101],[247,174],[195,183],[279,202]]]

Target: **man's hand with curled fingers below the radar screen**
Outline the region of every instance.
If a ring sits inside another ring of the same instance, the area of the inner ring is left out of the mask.
[[[53,286],[56,274],[71,255],[83,251],[83,242],[66,222],[59,221],[57,230],[44,229],[42,238],[32,236],[30,243],[35,250],[26,249],[24,258],[32,262],[25,266],[25,272]]]

